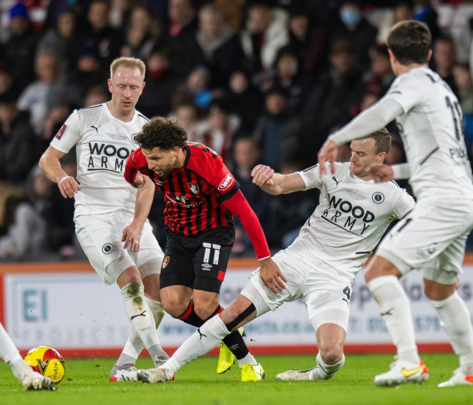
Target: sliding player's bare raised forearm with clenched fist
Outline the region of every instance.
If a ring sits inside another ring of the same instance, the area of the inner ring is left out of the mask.
[[[258,165],[252,171],[253,183],[273,196],[305,190],[304,180],[298,173],[279,174],[269,166]]]

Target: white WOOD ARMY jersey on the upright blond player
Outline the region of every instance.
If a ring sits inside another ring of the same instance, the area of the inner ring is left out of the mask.
[[[74,217],[124,209],[135,212],[136,189],[123,172],[128,156],[139,146],[136,135],[148,119],[135,111],[130,122],[115,118],[106,103],[75,110],[51,141],[51,146],[77,153]]]

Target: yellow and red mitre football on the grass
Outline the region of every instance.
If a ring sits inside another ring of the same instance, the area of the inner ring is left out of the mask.
[[[64,357],[57,350],[48,346],[38,346],[31,349],[25,357],[34,371],[51,378],[55,384],[59,384],[66,374]]]

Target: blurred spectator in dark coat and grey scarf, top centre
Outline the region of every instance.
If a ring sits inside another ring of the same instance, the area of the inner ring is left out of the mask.
[[[241,65],[243,50],[238,37],[224,24],[223,13],[213,4],[199,10],[196,41],[197,61],[209,69],[213,86],[224,86],[232,71]]]

